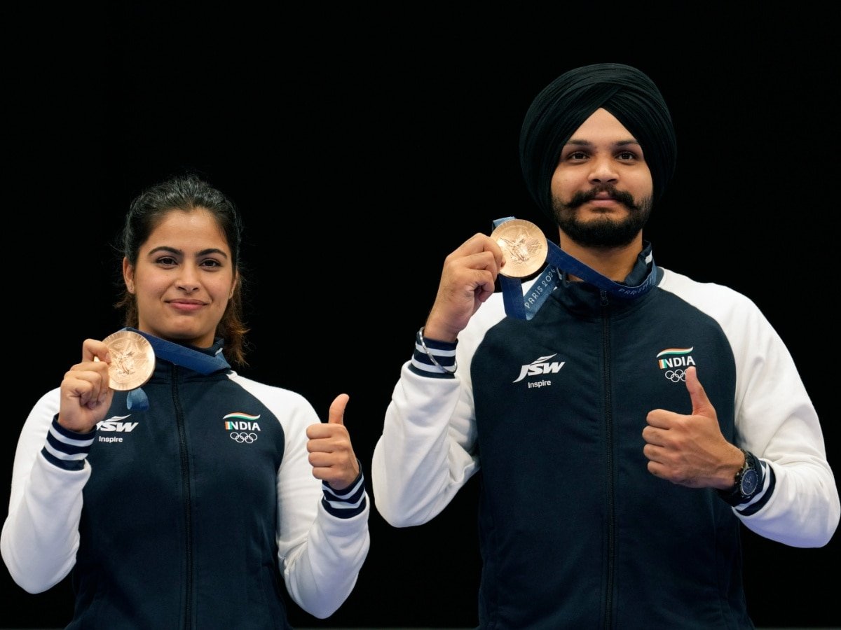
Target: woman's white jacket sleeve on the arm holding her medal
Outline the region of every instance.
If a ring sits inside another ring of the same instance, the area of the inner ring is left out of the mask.
[[[8,516],[0,536],[9,574],[29,593],[50,589],[76,564],[82,489],[91,475],[83,455],[76,459],[78,470],[66,470],[41,452],[50,449],[50,433],[53,439],[66,441],[52,426],[58,407],[56,389],[40,398],[24,423],[14,456]]]

